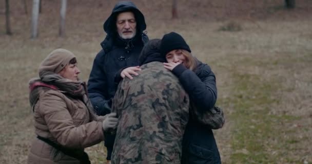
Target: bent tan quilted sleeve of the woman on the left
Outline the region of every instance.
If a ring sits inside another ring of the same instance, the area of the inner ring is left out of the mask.
[[[74,125],[65,100],[57,91],[48,91],[43,94],[38,109],[52,136],[64,147],[83,149],[104,139],[101,121],[91,121],[80,126]]]

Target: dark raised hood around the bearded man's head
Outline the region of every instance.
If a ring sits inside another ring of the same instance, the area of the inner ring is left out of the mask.
[[[136,32],[138,32],[138,34],[142,33],[146,29],[145,19],[142,12],[136,8],[132,2],[122,1],[115,5],[110,16],[103,25],[104,31],[108,35],[116,33],[116,15],[125,11],[133,12],[136,20]]]

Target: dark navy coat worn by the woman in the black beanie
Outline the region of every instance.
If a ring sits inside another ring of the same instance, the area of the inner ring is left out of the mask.
[[[178,65],[172,72],[179,77],[190,100],[200,110],[211,109],[217,100],[216,77],[210,67],[198,61],[193,71]],[[190,117],[183,136],[181,163],[221,163],[212,130]]]

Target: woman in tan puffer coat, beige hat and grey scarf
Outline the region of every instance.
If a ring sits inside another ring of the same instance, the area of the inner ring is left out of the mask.
[[[116,127],[115,113],[96,116],[79,80],[76,57],[65,49],[52,51],[29,82],[36,138],[28,163],[90,163],[84,148],[104,140]]]

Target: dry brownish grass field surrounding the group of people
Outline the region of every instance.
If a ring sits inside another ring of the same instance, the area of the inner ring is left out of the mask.
[[[0,163],[26,163],[35,137],[28,80],[53,49],[77,56],[87,80],[105,37],[103,21],[116,1],[68,1],[66,37],[57,37],[60,2],[43,1],[39,36],[30,39],[22,1],[11,0],[12,36],[5,35],[0,2]],[[177,31],[216,73],[225,127],[214,131],[223,163],[312,163],[312,1],[286,10],[282,0],[133,1],[146,17],[150,38]],[[87,148],[105,162],[103,144]]]

